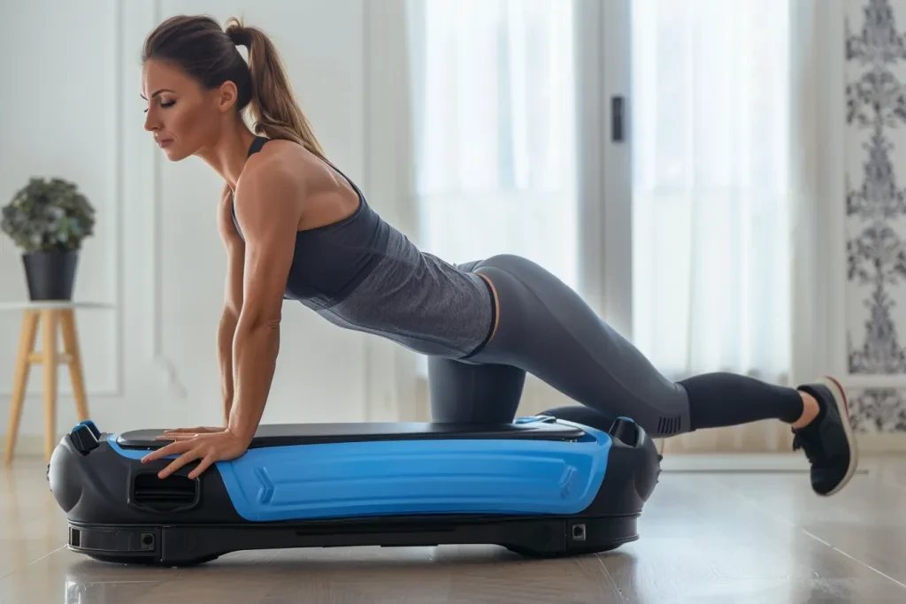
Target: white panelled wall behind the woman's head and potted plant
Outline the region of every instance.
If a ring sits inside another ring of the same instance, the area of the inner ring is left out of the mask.
[[[142,129],[140,50],[170,14],[245,16],[272,34],[298,98],[333,160],[390,218],[396,181],[371,145],[387,125],[371,119],[388,93],[373,82],[385,51],[369,0],[212,0],[4,3],[0,22],[0,205],[33,175],[78,183],[98,210],[82,250],[74,297],[113,311],[77,316],[92,417],[101,429],[217,424],[215,334],[224,254],[215,206],[221,184],[200,160],[173,164]],[[370,34],[371,32],[371,34]],[[383,34],[389,39],[389,32]],[[383,40],[386,43],[386,40]],[[382,54],[383,53],[383,54]],[[386,155],[386,154],[385,154]],[[0,302],[27,298],[20,252],[3,236]],[[6,431],[20,315],[0,313],[0,430]],[[339,330],[286,302],[284,336],[265,422],[357,421],[405,416],[394,380],[410,357],[370,336]],[[39,339],[40,342],[40,334]],[[396,363],[401,360],[402,364]],[[20,435],[43,434],[41,368],[32,369]],[[58,429],[76,421],[60,370]]]

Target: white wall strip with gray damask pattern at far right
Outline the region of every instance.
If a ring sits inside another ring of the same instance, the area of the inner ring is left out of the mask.
[[[906,0],[849,0],[846,340],[849,371],[906,379]],[[906,389],[853,389],[861,432],[906,430]]]

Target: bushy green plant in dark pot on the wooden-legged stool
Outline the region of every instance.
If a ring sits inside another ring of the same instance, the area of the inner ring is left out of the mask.
[[[63,178],[31,178],[0,215],[0,230],[22,249],[32,300],[71,300],[82,240],[94,233],[94,208]]]

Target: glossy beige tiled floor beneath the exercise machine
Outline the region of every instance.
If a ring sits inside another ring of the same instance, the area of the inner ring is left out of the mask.
[[[20,458],[0,469],[0,602],[906,602],[906,458],[863,468],[831,499],[796,472],[666,472],[641,540],[600,556],[363,547],[147,569],[68,551],[43,464]]]

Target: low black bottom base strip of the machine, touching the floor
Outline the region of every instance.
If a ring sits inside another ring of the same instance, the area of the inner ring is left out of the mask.
[[[369,518],[362,521],[179,525],[70,523],[69,548],[95,560],[190,566],[233,551],[299,547],[496,544],[527,557],[610,551],[639,538],[637,517]]]

